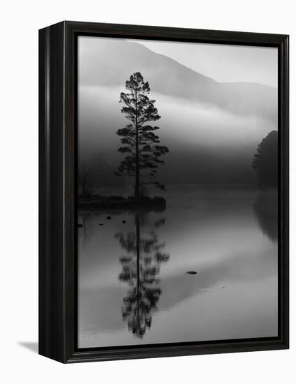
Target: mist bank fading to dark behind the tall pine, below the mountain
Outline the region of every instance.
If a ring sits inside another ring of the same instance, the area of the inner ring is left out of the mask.
[[[96,186],[123,184],[114,176],[118,128],[126,124],[119,95],[124,87],[79,87],[79,161],[100,170]],[[251,159],[275,119],[237,115],[213,105],[151,92],[161,119],[159,138],[170,149],[159,177],[169,184],[252,184]],[[104,166],[102,166],[102,161]],[[194,168],[192,168],[194,165]],[[108,175],[105,175],[108,173]]]

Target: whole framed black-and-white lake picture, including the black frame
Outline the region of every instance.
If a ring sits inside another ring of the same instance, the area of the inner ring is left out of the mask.
[[[40,354],[288,348],[288,36],[39,36]]]

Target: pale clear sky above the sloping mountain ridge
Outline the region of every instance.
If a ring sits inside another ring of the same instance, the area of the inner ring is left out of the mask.
[[[258,82],[277,88],[277,48],[130,40],[218,82]],[[260,63],[260,65],[258,65]]]

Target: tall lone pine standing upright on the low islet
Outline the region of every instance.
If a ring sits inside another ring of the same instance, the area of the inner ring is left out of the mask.
[[[169,149],[159,145],[159,137],[154,133],[159,127],[147,124],[160,119],[154,106],[155,100],[148,98],[148,82],[144,82],[140,72],[135,72],[130,76],[130,80],[125,82],[125,89],[127,92],[120,94],[120,103],[124,104],[121,112],[129,123],[118,129],[116,134],[120,136],[120,142],[123,144],[118,151],[126,156],[121,161],[116,175],[134,177],[134,197],[138,199],[143,185],[154,184],[160,189],[165,189],[164,184],[153,182],[153,177],[159,165],[164,164],[160,157],[169,152]]]

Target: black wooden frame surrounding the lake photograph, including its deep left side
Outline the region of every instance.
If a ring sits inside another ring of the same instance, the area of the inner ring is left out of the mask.
[[[148,38],[277,47],[279,50],[279,336],[178,344],[90,348],[77,344],[76,191],[77,36]],[[39,353],[59,362],[134,359],[289,346],[288,36],[91,22],[39,31]]]

